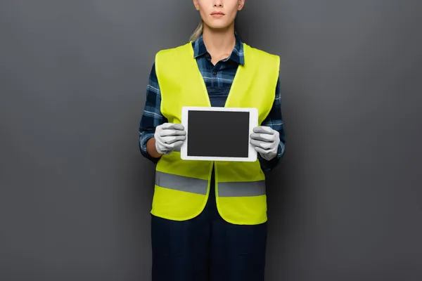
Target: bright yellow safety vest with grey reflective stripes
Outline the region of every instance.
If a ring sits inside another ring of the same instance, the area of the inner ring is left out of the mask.
[[[239,65],[226,107],[255,107],[258,123],[274,103],[280,58],[243,44],[245,64]],[[181,107],[210,107],[207,88],[191,42],[155,56],[161,91],[161,112],[170,123],[181,123]],[[182,160],[180,152],[162,155],[155,171],[151,214],[184,221],[203,211],[215,164],[215,194],[219,214],[229,223],[254,225],[267,221],[265,176],[260,162]]]

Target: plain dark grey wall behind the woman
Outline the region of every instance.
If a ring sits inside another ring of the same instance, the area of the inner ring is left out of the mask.
[[[281,55],[267,280],[422,280],[422,4],[246,1]],[[138,124],[191,1],[0,1],[0,280],[148,280],[154,166]]]

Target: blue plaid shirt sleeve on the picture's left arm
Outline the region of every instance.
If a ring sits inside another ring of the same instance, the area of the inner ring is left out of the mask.
[[[143,157],[157,163],[159,158],[149,155],[146,150],[146,143],[153,138],[155,128],[167,122],[167,119],[161,114],[161,94],[160,85],[158,84],[157,74],[155,73],[155,63],[151,69],[146,87],[146,101],[143,108],[141,122],[139,124],[139,149]]]

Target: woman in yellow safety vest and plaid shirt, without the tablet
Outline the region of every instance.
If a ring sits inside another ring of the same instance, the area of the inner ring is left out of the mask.
[[[193,0],[202,21],[191,41],[155,56],[139,128],[142,155],[157,163],[153,281],[264,280],[263,171],[278,164],[285,135],[279,57],[234,31],[244,2]],[[183,106],[257,107],[260,126],[250,135],[257,162],[181,160]]]

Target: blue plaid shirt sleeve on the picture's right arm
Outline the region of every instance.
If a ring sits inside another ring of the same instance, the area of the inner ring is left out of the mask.
[[[277,164],[279,164],[281,158],[284,155],[284,147],[286,145],[286,133],[284,131],[283,117],[281,115],[280,77],[277,81],[276,97],[274,98],[274,104],[271,108],[271,111],[269,112],[269,115],[262,122],[262,126],[269,126],[271,129],[278,131],[280,134],[279,150],[276,157],[267,161],[260,157],[260,155],[258,154],[258,159],[260,160],[262,171],[271,171],[277,166]]]

